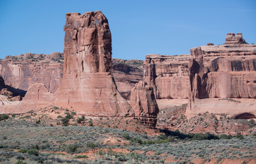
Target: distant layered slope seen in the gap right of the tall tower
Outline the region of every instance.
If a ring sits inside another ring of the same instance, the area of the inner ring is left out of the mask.
[[[118,91],[126,100],[130,100],[131,89],[143,81],[143,61],[137,59],[112,59],[112,74]]]

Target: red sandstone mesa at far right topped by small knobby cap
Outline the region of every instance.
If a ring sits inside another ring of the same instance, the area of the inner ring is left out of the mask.
[[[250,103],[226,107],[223,101],[203,100],[242,98],[244,101],[256,98],[256,45],[245,44],[241,37],[239,33],[237,36],[228,33],[224,45],[200,46],[190,50],[193,58],[190,62],[190,103],[186,113],[198,113],[201,109],[216,113],[255,111]],[[205,101],[209,102],[204,105]]]

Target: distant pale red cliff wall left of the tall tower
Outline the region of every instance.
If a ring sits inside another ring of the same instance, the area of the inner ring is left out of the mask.
[[[60,86],[63,53],[51,55],[25,53],[7,56],[0,61],[0,74],[14,88],[28,90],[34,83],[43,83],[54,93]]]

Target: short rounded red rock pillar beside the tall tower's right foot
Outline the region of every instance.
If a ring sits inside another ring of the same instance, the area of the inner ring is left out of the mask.
[[[131,90],[131,107],[137,117],[149,126],[155,126],[159,109],[155,100],[153,87],[149,87],[146,82],[136,83]]]

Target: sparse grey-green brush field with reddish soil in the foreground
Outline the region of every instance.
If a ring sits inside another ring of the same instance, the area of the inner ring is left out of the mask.
[[[256,163],[256,136],[0,122],[0,163]],[[114,118],[110,118],[114,119]],[[227,138],[227,139],[224,139]]]

